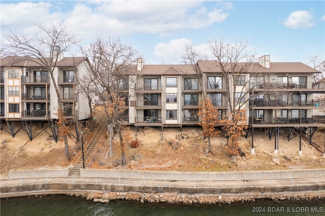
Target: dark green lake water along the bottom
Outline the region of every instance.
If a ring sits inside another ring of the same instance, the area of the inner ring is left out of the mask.
[[[43,196],[1,199],[0,214],[9,215],[325,215],[325,201],[271,201],[231,205],[183,205],[114,200],[94,203],[81,197]]]

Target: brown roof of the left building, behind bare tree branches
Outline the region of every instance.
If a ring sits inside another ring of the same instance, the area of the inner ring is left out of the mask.
[[[64,57],[62,60],[56,63],[57,67],[72,67],[77,66],[81,62],[85,61],[85,57]],[[44,58],[45,61],[51,61],[50,58]],[[29,56],[8,56],[0,59],[0,66],[16,66],[16,67],[39,67],[44,66],[38,58],[32,58]]]

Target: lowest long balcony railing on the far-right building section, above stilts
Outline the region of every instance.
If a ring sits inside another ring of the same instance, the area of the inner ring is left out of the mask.
[[[274,119],[264,119],[263,117],[249,117],[249,124],[325,124],[325,116],[312,116],[312,117],[275,117]]]

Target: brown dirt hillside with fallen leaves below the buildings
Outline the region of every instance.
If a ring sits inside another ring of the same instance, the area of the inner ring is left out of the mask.
[[[37,130],[37,129],[36,129]],[[72,128],[73,130],[73,128]],[[83,128],[85,146],[93,133]],[[135,128],[130,127],[130,139],[135,140]],[[164,128],[161,141],[161,128],[139,127],[137,148],[125,146],[126,166],[114,166],[121,159],[118,137],[113,141],[113,157],[109,157],[107,135],[103,135],[92,156],[86,162],[86,168],[139,169],[139,170],[174,170],[174,171],[248,171],[293,168],[324,168],[325,158],[322,153],[302,141],[302,156],[298,155],[299,136],[287,141],[280,136],[278,154],[274,154],[274,138],[266,139],[262,132],[255,130],[255,154],[250,154],[251,136],[241,137],[240,147],[245,153],[236,164],[230,163],[226,138],[219,136],[211,139],[213,154],[206,154],[208,143],[201,136],[200,127],[182,128],[184,138],[180,137],[179,128]],[[323,151],[323,132],[317,132],[313,140],[319,143]],[[188,137],[187,137],[188,136]],[[2,130],[1,141],[1,176],[8,176],[11,169],[34,169],[50,167],[67,167],[73,165],[81,156],[81,143],[74,137],[69,138],[69,151],[72,160],[64,157],[64,143],[49,139],[49,135],[40,135],[29,141],[27,134],[21,130],[14,138]]]

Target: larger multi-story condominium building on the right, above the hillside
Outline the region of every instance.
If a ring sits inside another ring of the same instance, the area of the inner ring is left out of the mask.
[[[253,129],[258,128],[270,139],[281,132],[290,140],[295,131],[307,131],[311,140],[317,127],[325,126],[325,113],[313,115],[325,108],[325,101],[315,96],[325,93],[322,85],[313,83],[318,70],[300,62],[270,62],[266,55],[252,63],[251,70],[241,72],[234,85],[226,83],[217,65],[217,61],[205,60],[197,65],[144,65],[139,59],[128,79],[119,81],[128,104],[123,120],[136,127],[162,129],[198,125],[198,104],[206,95],[219,118],[228,118],[231,103],[244,103],[249,126],[246,136],[250,131],[253,136]],[[236,101],[229,101],[227,92]]]

